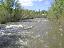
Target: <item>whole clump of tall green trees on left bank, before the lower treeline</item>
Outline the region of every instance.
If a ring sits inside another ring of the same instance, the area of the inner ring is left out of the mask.
[[[18,21],[20,19],[20,12],[18,0],[5,0],[0,5],[0,23]]]

